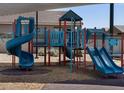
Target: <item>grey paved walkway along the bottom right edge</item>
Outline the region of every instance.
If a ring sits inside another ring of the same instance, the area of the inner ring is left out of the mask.
[[[45,90],[124,90],[124,87],[86,84],[45,84]]]

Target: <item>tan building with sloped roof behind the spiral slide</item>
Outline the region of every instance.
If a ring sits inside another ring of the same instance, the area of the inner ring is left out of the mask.
[[[58,27],[59,18],[65,14],[65,11],[39,11],[38,27],[44,28],[50,26],[51,28]],[[6,41],[12,38],[14,19],[17,19],[19,16],[25,17],[34,17],[36,18],[36,13],[24,13],[8,16],[0,16],[0,52],[6,52],[5,44]],[[22,27],[23,29],[24,27]],[[27,44],[23,45],[23,49],[27,50]]]

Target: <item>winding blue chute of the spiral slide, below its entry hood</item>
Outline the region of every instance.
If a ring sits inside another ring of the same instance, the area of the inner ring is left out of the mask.
[[[9,40],[6,43],[6,49],[8,50],[8,52],[19,57],[19,66],[22,69],[30,69],[34,64],[33,55],[21,50],[21,45],[32,40],[33,36],[34,32]]]

